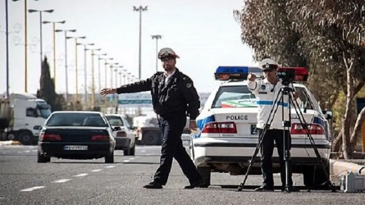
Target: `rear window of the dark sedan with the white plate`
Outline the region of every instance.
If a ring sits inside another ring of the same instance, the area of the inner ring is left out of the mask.
[[[108,124],[98,113],[65,112],[54,113],[46,126],[108,127]]]

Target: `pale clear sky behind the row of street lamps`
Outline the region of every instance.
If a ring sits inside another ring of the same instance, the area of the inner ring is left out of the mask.
[[[142,13],[142,78],[155,72],[155,40],[160,34],[159,48],[171,47],[180,59],[177,67],[190,76],[199,92],[210,92],[218,82],[213,73],[219,65],[251,66],[252,52],[240,40],[240,26],[233,18],[233,9],[242,7],[242,0],[28,0],[28,9],[54,9],[43,13],[43,20],[62,21],[57,29],[77,29],[70,36],[87,36],[81,43],[95,43],[100,53],[108,53],[128,72],[138,77],[139,15],[132,6],[148,5]],[[5,31],[5,4],[0,5],[0,31]],[[9,34],[10,92],[24,92],[24,45],[15,45],[14,39],[24,44],[24,0],[9,0],[9,30],[21,24],[22,30]],[[17,30],[18,27],[15,28]],[[40,49],[39,13],[28,13],[28,92],[39,88]],[[49,58],[53,76],[52,26],[43,24],[43,53]],[[0,33],[0,92],[5,92],[5,34]],[[56,91],[65,92],[65,37],[56,34]],[[76,92],[75,42],[68,40],[69,93]],[[78,88],[83,93],[84,51],[78,47]],[[91,55],[87,54],[88,84],[91,84]],[[159,62],[160,64],[160,62]],[[95,80],[98,87],[98,61],[95,59]],[[105,85],[104,65],[101,67],[101,85]],[[161,65],[159,69],[162,70]],[[110,73],[107,70],[108,85]],[[119,79],[119,78],[118,78]],[[119,80],[118,80],[119,81]]]

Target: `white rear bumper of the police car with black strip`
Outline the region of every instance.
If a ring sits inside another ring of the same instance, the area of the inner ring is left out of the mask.
[[[233,141],[233,142],[232,142]],[[255,142],[252,142],[255,141]],[[319,160],[312,145],[298,143],[292,140],[291,160],[292,165],[319,165]],[[248,165],[257,146],[257,139],[194,139],[192,158],[197,166],[205,163],[243,163]],[[330,142],[324,140],[316,144],[316,148],[323,159],[328,159],[330,154]],[[255,162],[260,162],[260,151]],[[273,163],[279,163],[279,156],[275,146],[272,157]]]

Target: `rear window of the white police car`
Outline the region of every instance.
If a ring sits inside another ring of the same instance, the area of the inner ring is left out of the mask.
[[[295,87],[302,102],[301,108],[314,109],[313,103],[306,90],[302,87]],[[250,92],[247,85],[221,86],[215,96],[212,108],[237,108],[237,107],[257,107],[256,96]],[[293,104],[291,104],[293,107]]]

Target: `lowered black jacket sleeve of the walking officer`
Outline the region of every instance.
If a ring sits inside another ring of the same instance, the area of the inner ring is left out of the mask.
[[[199,95],[193,85],[193,81],[186,77],[181,84],[182,93],[185,101],[188,104],[188,113],[190,114],[190,120],[195,120],[199,115],[200,100]]]

